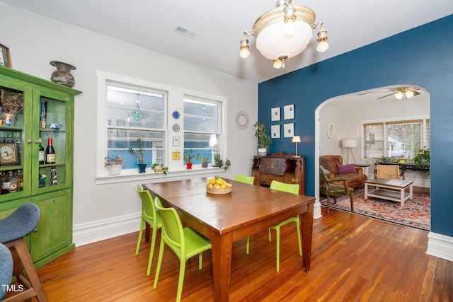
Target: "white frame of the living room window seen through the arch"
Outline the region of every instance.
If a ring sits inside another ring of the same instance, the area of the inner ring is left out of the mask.
[[[404,121],[408,121],[408,120],[423,120],[423,133],[422,133],[422,136],[423,136],[423,144],[422,144],[422,148],[423,146],[428,146],[428,141],[429,141],[429,137],[430,137],[430,133],[429,133],[429,128],[430,127],[427,127],[427,121],[430,121],[430,116],[429,115],[416,115],[416,116],[411,116],[411,117],[394,117],[394,118],[389,118],[389,119],[379,119],[379,120],[362,120],[361,121],[361,124],[360,124],[360,140],[361,140],[361,158],[362,159],[376,159],[375,157],[365,157],[365,146],[364,146],[364,124],[374,124],[374,123],[382,123],[382,127],[383,127],[383,135],[384,135],[384,139],[383,139],[383,149],[382,149],[382,155],[377,157],[377,158],[380,158],[382,156],[387,156],[387,147],[388,147],[388,141],[389,141],[389,138],[387,137],[387,129],[386,129],[386,123],[394,123],[394,122],[404,122]],[[428,146],[428,149],[430,149],[430,146]]]

